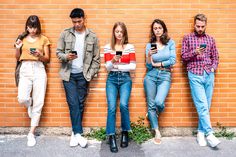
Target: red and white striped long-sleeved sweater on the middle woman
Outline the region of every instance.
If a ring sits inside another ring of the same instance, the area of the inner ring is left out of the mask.
[[[112,63],[111,60],[115,55],[116,52],[111,49],[110,44],[107,44],[104,47],[104,58],[107,71],[128,72],[130,70],[135,70],[136,68],[135,50],[132,44],[127,44],[122,52],[121,59],[115,63]],[[113,65],[117,65],[118,69],[115,69]]]

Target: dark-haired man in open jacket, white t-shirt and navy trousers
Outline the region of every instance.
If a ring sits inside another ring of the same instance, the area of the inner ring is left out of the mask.
[[[87,145],[87,139],[81,136],[84,102],[89,81],[100,68],[100,51],[96,34],[85,26],[83,9],[73,9],[70,18],[73,27],[61,33],[56,54],[61,61],[60,76],[72,123],[70,146],[84,148]]]

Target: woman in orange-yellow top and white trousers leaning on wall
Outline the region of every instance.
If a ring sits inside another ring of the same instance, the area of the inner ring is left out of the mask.
[[[39,124],[47,86],[44,63],[49,62],[48,38],[41,34],[38,16],[31,15],[25,24],[25,32],[15,42],[15,57],[21,61],[18,84],[18,102],[28,108],[31,118],[27,145],[34,146],[35,129]]]

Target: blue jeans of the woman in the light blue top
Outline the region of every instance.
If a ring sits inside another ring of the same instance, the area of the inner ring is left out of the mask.
[[[152,129],[158,128],[157,112],[165,108],[165,99],[169,93],[171,73],[168,71],[152,69],[144,78],[144,90],[148,104],[148,119]]]

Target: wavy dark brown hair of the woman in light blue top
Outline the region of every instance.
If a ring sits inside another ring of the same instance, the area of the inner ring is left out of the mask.
[[[155,23],[160,24],[162,26],[163,34],[160,37],[160,41],[163,45],[166,45],[168,41],[170,40],[170,37],[168,36],[168,30],[167,30],[166,24],[164,23],[164,21],[160,19],[155,19],[151,24],[150,43],[155,43],[157,41],[156,35],[154,34],[154,31],[153,31],[153,26]]]

